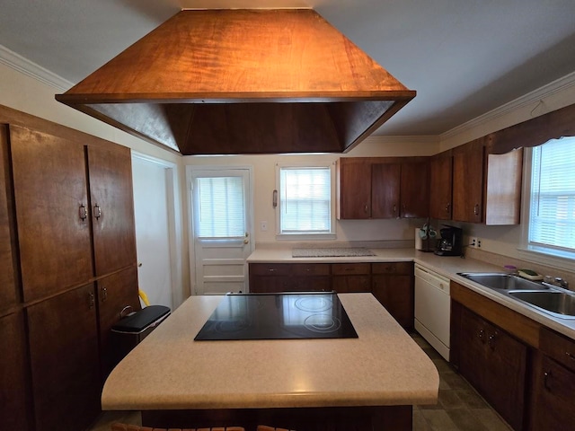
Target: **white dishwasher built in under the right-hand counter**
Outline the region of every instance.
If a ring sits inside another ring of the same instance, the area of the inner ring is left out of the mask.
[[[449,360],[449,278],[415,264],[415,330]]]

